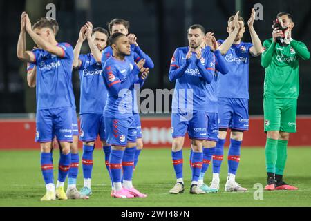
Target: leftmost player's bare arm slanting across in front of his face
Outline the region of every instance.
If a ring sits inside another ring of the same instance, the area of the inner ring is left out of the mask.
[[[25,15],[25,20],[26,20],[26,31],[28,32],[32,40],[35,41],[35,44],[39,46],[39,48],[42,48],[43,50],[46,50],[47,52],[50,52],[51,54],[56,55],[57,57],[64,56],[64,50],[59,46],[57,46],[57,41],[55,39],[54,44],[51,44],[50,42],[46,41],[45,39],[37,35],[37,33],[34,30],[32,30],[31,21],[27,13]],[[54,31],[52,31],[50,35],[54,36]]]

